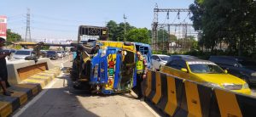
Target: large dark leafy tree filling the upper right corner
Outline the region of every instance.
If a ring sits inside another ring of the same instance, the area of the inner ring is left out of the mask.
[[[255,50],[256,3],[252,0],[195,0],[189,9],[195,30],[202,31],[200,46],[213,50],[225,42],[239,55]]]

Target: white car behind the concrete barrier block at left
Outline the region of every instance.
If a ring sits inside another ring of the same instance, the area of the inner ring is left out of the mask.
[[[31,49],[21,49],[17,50],[14,54],[14,59],[25,59],[28,56],[32,56],[32,50]]]

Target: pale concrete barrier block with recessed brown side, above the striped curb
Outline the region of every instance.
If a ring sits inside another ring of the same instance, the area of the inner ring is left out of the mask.
[[[37,63],[34,60],[22,59],[8,61],[8,80],[11,85],[16,85],[32,75],[54,67],[49,58],[39,58]]]

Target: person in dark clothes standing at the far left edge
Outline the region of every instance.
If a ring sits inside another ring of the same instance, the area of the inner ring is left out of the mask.
[[[0,85],[3,88],[3,95],[10,96],[12,92],[8,91],[6,88],[6,81],[8,78],[7,66],[6,66],[6,56],[9,56],[10,53],[3,52],[5,39],[0,37]]]

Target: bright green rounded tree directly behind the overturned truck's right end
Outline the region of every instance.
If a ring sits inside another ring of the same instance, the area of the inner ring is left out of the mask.
[[[131,31],[128,31],[126,35],[126,39],[128,42],[143,42],[143,43],[150,43],[150,38],[148,36],[148,29],[136,29],[133,28]]]

